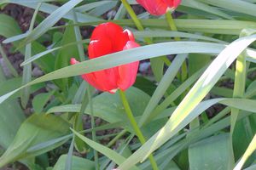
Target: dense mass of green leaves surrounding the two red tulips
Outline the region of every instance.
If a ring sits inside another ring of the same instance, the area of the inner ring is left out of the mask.
[[[151,169],[154,159],[163,170],[255,168],[256,1],[183,0],[173,20],[170,12],[135,14],[130,5],[136,1],[4,0],[0,8],[7,3],[35,12],[26,33],[0,14],[3,43],[25,55],[26,68],[18,75],[1,45],[14,77],[0,69],[0,167],[20,161],[32,170]],[[87,59],[90,40],[82,31],[109,20],[131,30],[141,47]],[[73,57],[81,62],[69,65]],[[125,92],[143,144],[119,92],[100,93],[77,76],[144,59],[153,73],[139,73]],[[44,76],[31,76],[32,63]],[[32,98],[40,88],[47,92]],[[29,100],[34,113],[26,117],[20,104],[29,107]],[[90,128],[83,116],[90,116]],[[104,123],[96,125],[95,118]],[[113,128],[122,131],[96,133]],[[61,147],[68,151],[50,162],[45,153]]]

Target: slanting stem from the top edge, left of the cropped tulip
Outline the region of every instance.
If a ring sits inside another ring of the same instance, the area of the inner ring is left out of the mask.
[[[126,0],[121,0],[121,2],[124,4],[128,14],[130,14],[131,20],[133,20],[133,22],[134,22],[135,26],[137,27],[138,31],[144,31],[142,22],[137,19],[137,14],[135,14],[134,10],[131,8],[131,5]],[[144,41],[147,42],[148,44],[153,43],[153,41],[148,37],[145,37]],[[164,63],[166,65],[168,65],[168,66],[171,65],[171,61],[166,56],[161,57],[161,59],[164,61]]]

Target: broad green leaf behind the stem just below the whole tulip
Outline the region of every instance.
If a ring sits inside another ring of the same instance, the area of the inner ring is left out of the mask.
[[[125,91],[126,97],[131,105],[131,111],[134,116],[141,116],[143,111],[148,104],[149,96],[143,91],[137,88],[129,88]],[[132,127],[129,123],[128,118],[125,114],[125,109],[119,99],[119,94],[108,94],[102,93],[97,95],[93,100],[93,111],[94,116],[101,117],[104,121],[110,123],[123,122],[121,127],[128,128],[129,131],[133,132]],[[79,112],[81,105],[61,105],[52,107],[47,111],[52,112]],[[85,110],[85,114],[91,115],[90,107],[88,106]],[[160,119],[155,122],[150,122],[147,126],[143,127],[143,134],[146,137],[150,137],[154,132],[159,129],[166,119]]]

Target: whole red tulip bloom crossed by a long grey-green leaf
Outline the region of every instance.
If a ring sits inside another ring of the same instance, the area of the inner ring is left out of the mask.
[[[123,31],[121,26],[108,22],[96,26],[92,32],[88,47],[89,59],[137,47],[139,44],[135,42],[131,31]],[[70,62],[74,65],[79,61],[73,58]],[[139,61],[136,61],[102,71],[90,72],[82,75],[82,78],[94,88],[113,94],[118,89],[124,91],[133,85],[137,77],[138,65]]]

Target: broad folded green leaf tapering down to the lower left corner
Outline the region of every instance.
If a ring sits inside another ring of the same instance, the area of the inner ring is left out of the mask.
[[[33,145],[44,141],[55,139],[66,135],[69,132],[69,124],[58,116],[33,114],[22,123],[15,135],[15,139],[9,148],[0,157],[0,167],[12,161],[17,161],[30,156],[41,155],[48,150],[53,150],[63,142],[49,145],[42,150],[28,152]]]

